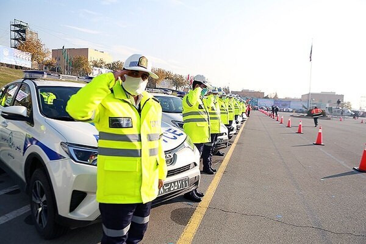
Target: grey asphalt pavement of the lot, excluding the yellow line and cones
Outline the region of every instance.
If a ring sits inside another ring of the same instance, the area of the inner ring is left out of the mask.
[[[281,115],[286,122],[290,113]],[[302,119],[304,134],[295,133],[298,122],[292,117],[293,127],[286,128],[251,113],[192,243],[366,243],[366,173],[352,170],[361,159],[366,125],[361,119],[319,120],[325,146],[315,146],[313,120]],[[214,156],[216,168],[223,158]],[[212,179],[202,174],[200,191]],[[0,172],[0,243],[100,241],[101,224],[41,239],[28,204]],[[142,243],[176,243],[197,206],[180,196],[154,207]]]

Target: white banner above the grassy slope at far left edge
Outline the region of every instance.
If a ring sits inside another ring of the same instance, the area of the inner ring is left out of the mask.
[[[32,55],[15,48],[0,45],[0,63],[31,68]]]

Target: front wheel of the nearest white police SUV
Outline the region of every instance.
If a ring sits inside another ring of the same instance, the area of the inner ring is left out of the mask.
[[[66,233],[68,228],[55,221],[55,199],[43,169],[34,171],[29,184],[29,197],[34,226],[44,239],[53,239]]]

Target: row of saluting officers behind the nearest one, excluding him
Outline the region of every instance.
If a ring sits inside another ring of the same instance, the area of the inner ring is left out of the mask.
[[[231,131],[232,121],[246,113],[245,102],[222,89],[210,86],[203,75],[194,76],[192,90],[183,97],[183,130],[191,138],[201,154],[203,169],[206,174],[214,174],[212,155],[217,136],[220,134],[221,123]],[[218,151],[216,155],[225,154]],[[203,193],[193,190],[184,194],[186,199],[201,202]]]

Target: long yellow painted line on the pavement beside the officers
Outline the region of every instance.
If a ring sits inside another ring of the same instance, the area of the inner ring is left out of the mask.
[[[240,128],[240,131],[238,132],[238,135],[236,136],[234,143],[232,143],[228,153],[226,154],[223,162],[220,165],[219,170],[217,170],[215,177],[213,178],[211,184],[207,188],[207,191],[205,193],[205,196],[202,198],[202,202],[200,202],[197,206],[197,209],[194,211],[191,219],[189,220],[188,224],[186,225],[186,228],[184,228],[182,235],[179,237],[176,244],[190,244],[193,241],[193,237],[196,234],[196,231],[198,229],[199,224],[201,224],[203,215],[205,215],[206,210],[212,200],[213,194],[216,191],[217,186],[219,185],[219,182],[221,180],[221,177],[224,174],[224,171],[226,169],[226,166],[229,163],[229,160],[231,158],[231,154],[235,149],[236,143],[238,143],[238,140],[240,138],[240,134],[242,134],[243,128],[245,126],[246,122],[244,122],[242,128]]]

